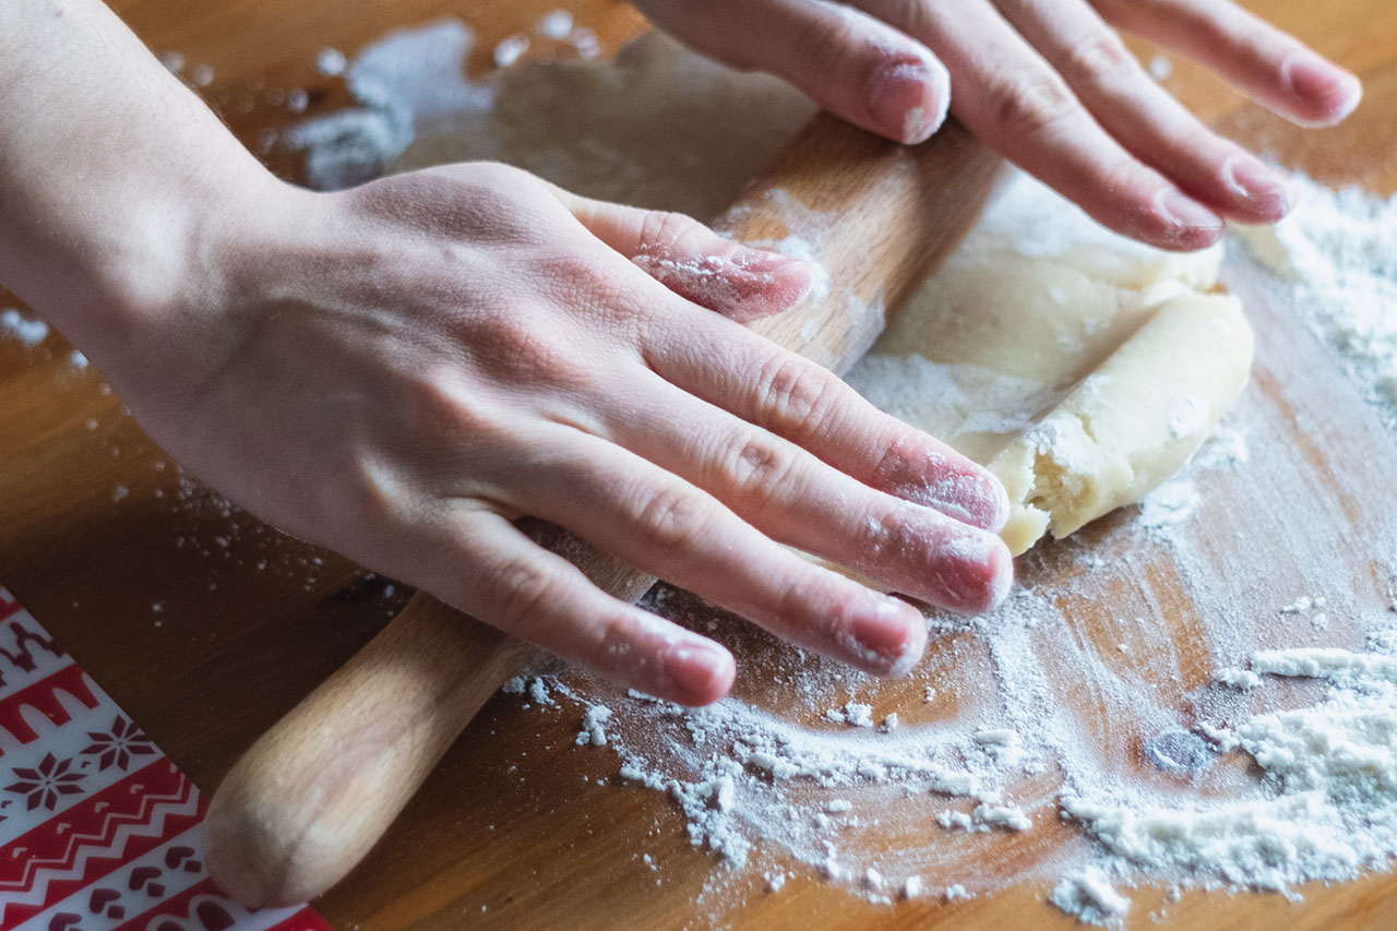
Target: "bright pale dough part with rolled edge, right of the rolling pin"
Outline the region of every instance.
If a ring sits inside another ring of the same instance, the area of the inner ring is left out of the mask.
[[[1246,383],[1221,257],[1113,236],[1016,175],[849,383],[1004,482],[1018,555],[1140,500]]]

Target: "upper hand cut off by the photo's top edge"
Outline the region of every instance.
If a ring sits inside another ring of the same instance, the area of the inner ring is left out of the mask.
[[[1208,66],[1302,126],[1329,126],[1358,78],[1228,0],[636,0],[662,28],[785,77],[870,131],[921,143],[947,106],[985,144],[1097,221],[1200,249],[1222,219],[1274,222],[1284,175],[1204,127],[1116,28]]]

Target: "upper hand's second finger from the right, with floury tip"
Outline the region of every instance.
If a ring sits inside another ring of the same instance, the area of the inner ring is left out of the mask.
[[[1046,0],[999,0],[999,7],[1136,158],[1232,219],[1267,224],[1289,211],[1289,179],[1206,129],[1091,7]]]

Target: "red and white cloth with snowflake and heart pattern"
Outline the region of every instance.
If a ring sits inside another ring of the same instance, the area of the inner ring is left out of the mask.
[[[204,868],[208,802],[0,587],[0,930],[328,931]]]

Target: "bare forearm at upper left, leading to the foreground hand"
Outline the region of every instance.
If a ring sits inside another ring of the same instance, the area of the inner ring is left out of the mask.
[[[84,351],[142,338],[268,182],[99,0],[0,6],[0,284]]]

